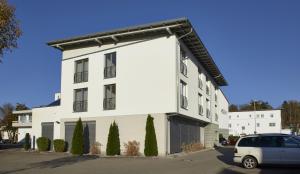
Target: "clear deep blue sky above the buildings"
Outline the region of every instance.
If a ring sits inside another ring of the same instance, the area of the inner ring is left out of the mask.
[[[47,41],[188,17],[229,82],[229,101],[300,100],[300,1],[10,0],[23,36],[0,64],[0,104],[39,106],[60,91],[60,51]]]

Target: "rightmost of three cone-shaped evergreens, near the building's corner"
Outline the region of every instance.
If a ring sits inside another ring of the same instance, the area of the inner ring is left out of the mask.
[[[149,114],[147,117],[146,123],[146,136],[145,136],[145,148],[144,148],[145,156],[157,156],[157,141],[155,128],[153,124],[153,117]]]

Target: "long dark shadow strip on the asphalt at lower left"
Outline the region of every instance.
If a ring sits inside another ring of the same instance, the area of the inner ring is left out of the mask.
[[[30,169],[36,169],[36,168],[56,168],[56,167],[62,167],[66,165],[72,165],[79,162],[94,160],[99,158],[99,156],[96,155],[85,155],[85,156],[68,156],[63,158],[56,158],[53,160],[48,161],[42,161],[38,163],[32,163],[29,164],[29,167],[21,168],[21,169],[15,169],[10,171],[0,171],[0,174],[10,174],[10,173],[16,173],[21,171],[26,171]]]

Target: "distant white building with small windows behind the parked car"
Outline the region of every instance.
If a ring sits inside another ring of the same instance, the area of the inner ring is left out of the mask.
[[[229,112],[229,134],[281,133],[281,110]]]

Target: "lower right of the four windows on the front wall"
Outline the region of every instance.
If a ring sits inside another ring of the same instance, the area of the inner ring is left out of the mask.
[[[113,110],[116,108],[116,84],[104,85],[103,109]]]

